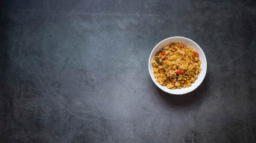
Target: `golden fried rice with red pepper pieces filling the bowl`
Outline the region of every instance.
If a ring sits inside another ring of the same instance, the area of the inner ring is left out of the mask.
[[[153,76],[168,89],[188,88],[198,77],[201,60],[198,52],[178,42],[165,45],[153,57]]]

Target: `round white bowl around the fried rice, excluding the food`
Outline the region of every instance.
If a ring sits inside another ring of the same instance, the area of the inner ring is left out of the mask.
[[[199,53],[199,58],[201,60],[202,70],[198,74],[198,77],[195,80],[195,82],[192,83],[192,85],[189,86],[188,88],[168,89],[166,86],[159,85],[159,83],[156,82],[155,77],[153,76],[153,67],[152,67],[152,63],[151,63],[152,58],[154,57],[156,52],[158,52],[160,49],[162,49],[163,46],[170,44],[170,42],[182,43],[183,45],[186,45],[186,46],[189,46],[190,48],[195,49],[195,51],[197,51]],[[163,91],[165,91],[169,94],[180,95],[180,94],[186,94],[188,92],[194,91],[194,89],[196,89],[203,82],[204,77],[206,76],[206,70],[207,70],[207,61],[206,61],[206,57],[204,55],[204,52],[200,48],[200,46],[197,43],[195,43],[194,41],[192,41],[191,39],[180,37],[180,36],[167,38],[167,39],[164,39],[163,41],[159,42],[155,46],[155,48],[153,48],[153,50],[152,50],[152,52],[149,56],[149,74],[150,74],[153,82],[156,84],[156,86],[158,86],[158,88],[162,89]]]

